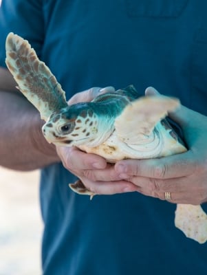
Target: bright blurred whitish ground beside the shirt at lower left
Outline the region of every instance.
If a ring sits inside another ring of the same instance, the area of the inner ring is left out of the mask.
[[[39,171],[0,167],[0,275],[41,274]]]

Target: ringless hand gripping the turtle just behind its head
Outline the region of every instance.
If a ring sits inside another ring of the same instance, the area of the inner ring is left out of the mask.
[[[115,91],[113,87],[104,89],[91,88],[74,95],[68,104],[87,102],[96,96],[109,91]],[[118,192],[130,192],[137,189],[129,181],[123,181],[113,168],[99,155],[84,153],[76,147],[56,146],[56,151],[63,162],[63,166],[76,175],[88,190],[96,194],[114,194]]]

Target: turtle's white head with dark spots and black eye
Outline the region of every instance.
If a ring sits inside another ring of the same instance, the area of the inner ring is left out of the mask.
[[[96,140],[97,127],[98,118],[89,103],[78,103],[52,113],[43,125],[43,135],[56,145],[88,145]]]

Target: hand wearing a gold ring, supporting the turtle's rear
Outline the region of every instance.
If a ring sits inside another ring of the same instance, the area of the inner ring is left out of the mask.
[[[149,89],[146,94],[153,94]],[[144,195],[171,202],[199,205],[207,201],[207,118],[181,107],[170,117],[183,130],[188,151],[160,159],[128,159],[116,163],[120,177],[138,186]]]

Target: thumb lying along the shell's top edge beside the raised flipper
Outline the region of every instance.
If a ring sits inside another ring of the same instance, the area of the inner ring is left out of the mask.
[[[89,102],[96,98],[96,96],[100,96],[100,94],[105,94],[114,91],[114,87],[111,86],[105,88],[93,87],[91,89],[80,91],[80,93],[75,94],[74,96],[72,96],[72,98],[68,100],[67,104],[71,105],[78,102]]]

